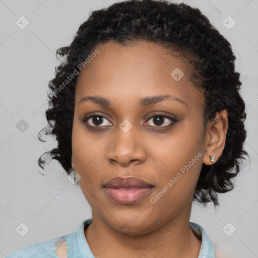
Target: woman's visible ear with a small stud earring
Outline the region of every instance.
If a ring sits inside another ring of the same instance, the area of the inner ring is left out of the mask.
[[[226,134],[228,130],[228,113],[226,110],[217,112],[216,117],[207,122],[206,125],[206,139],[205,139],[205,155],[203,163],[211,165],[221,156],[225,142]],[[214,162],[211,162],[210,155],[214,156]]]

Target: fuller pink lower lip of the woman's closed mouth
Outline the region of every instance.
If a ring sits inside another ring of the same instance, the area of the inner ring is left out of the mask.
[[[107,196],[118,204],[134,204],[146,196],[152,188],[105,188]]]

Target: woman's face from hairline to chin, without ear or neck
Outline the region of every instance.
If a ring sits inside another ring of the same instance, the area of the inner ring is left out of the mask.
[[[145,41],[97,49],[78,79],[72,133],[72,165],[93,218],[132,234],[189,219],[206,130],[186,62]],[[110,183],[116,177],[146,184]]]

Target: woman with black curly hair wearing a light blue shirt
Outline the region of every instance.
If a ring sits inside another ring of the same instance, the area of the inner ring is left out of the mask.
[[[219,205],[247,155],[229,42],[198,9],[125,1],[94,11],[57,53],[49,154],[76,171],[92,219],[8,258],[218,257],[189,217],[192,201]]]

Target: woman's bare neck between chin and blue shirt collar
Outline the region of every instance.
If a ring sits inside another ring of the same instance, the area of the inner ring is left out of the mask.
[[[190,228],[189,215],[178,214],[149,233],[130,235],[113,230],[93,212],[85,237],[95,257],[198,258],[201,240]]]

